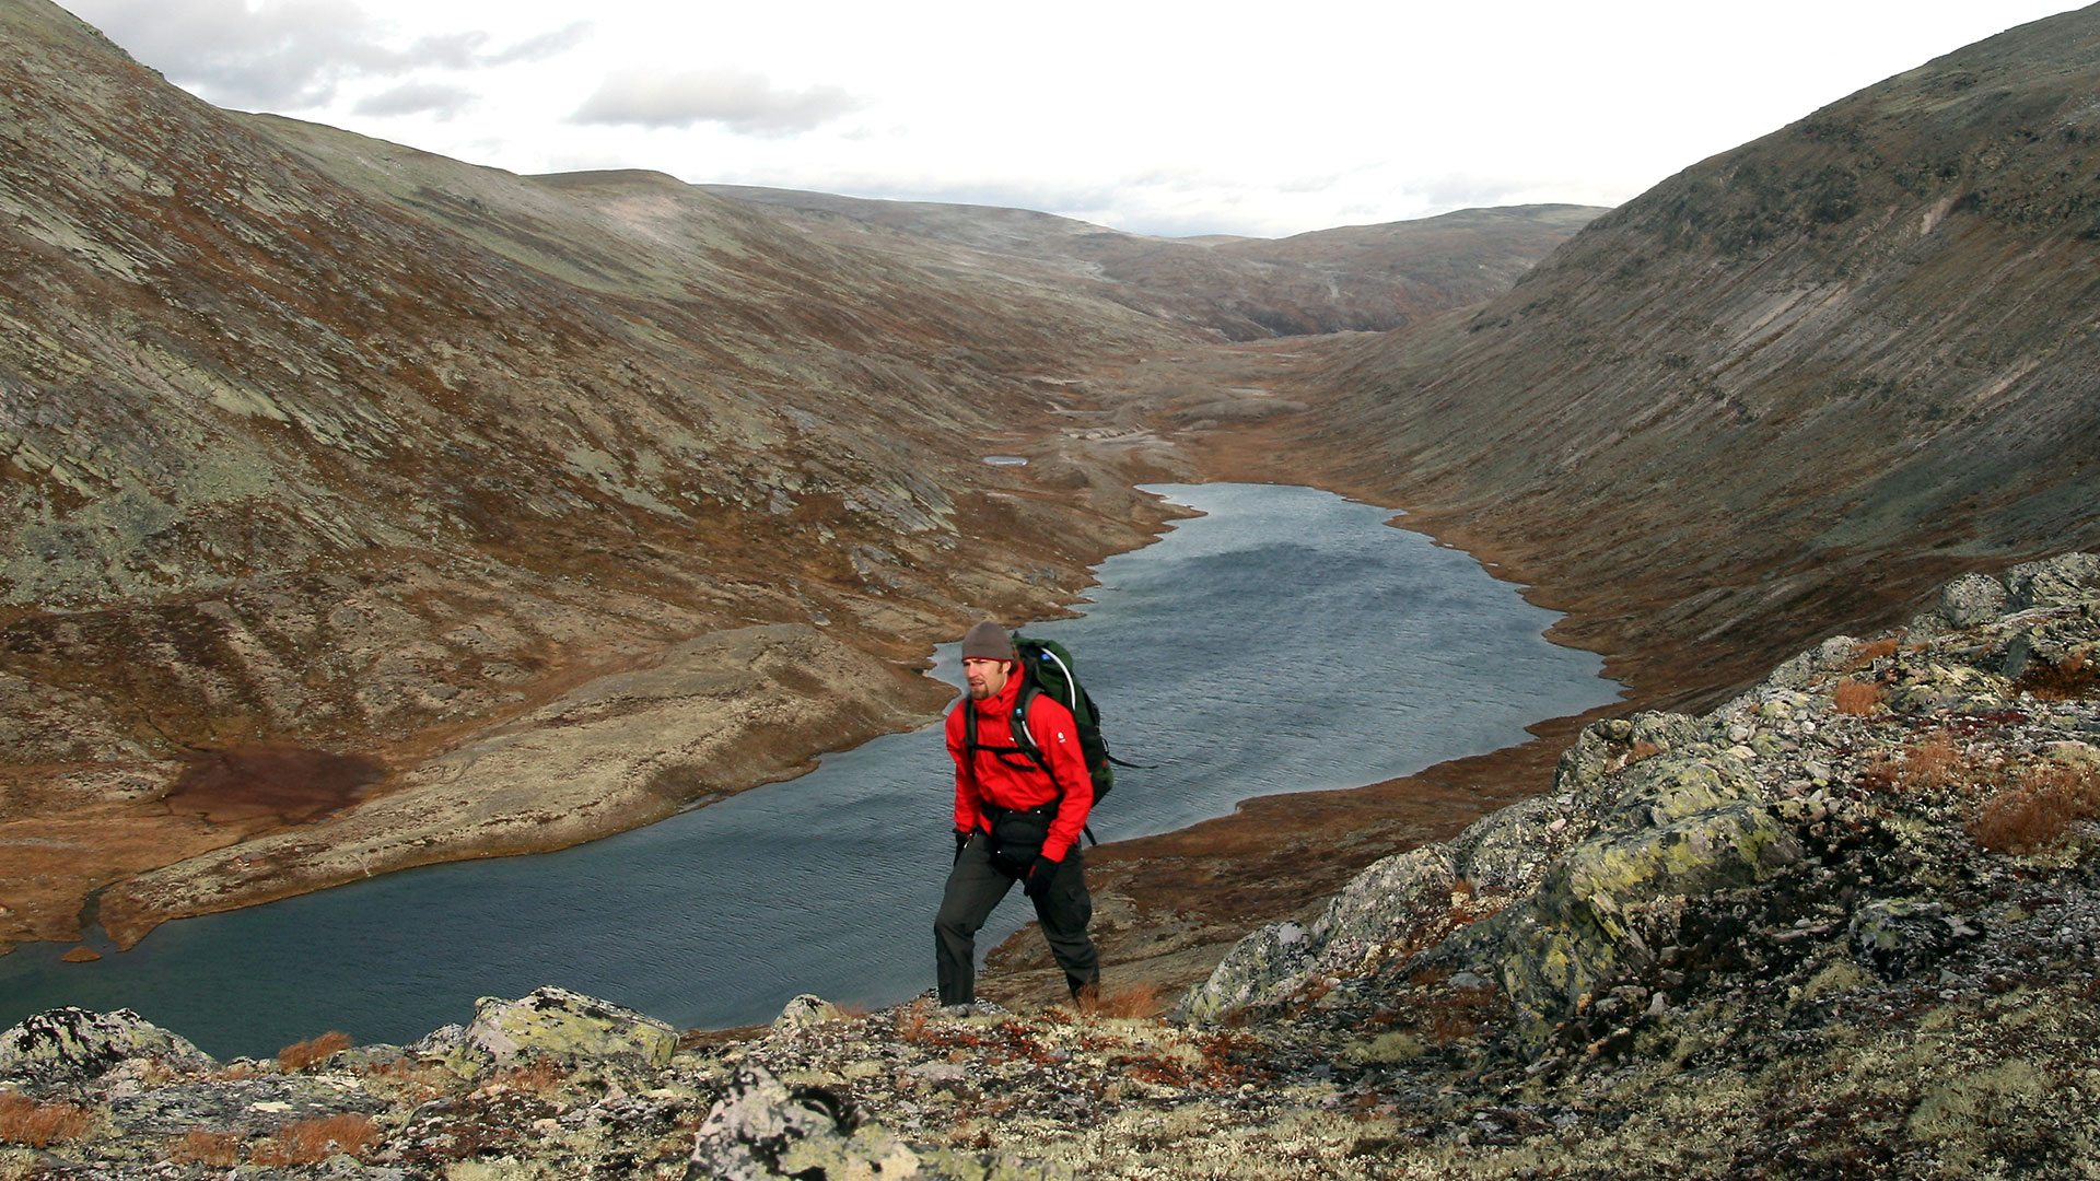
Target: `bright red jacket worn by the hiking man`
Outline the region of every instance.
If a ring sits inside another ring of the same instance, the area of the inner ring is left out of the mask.
[[[1094,778],[1086,771],[1086,754],[1079,750],[1079,727],[1071,721],[1071,710],[1048,693],[1029,700],[1029,733],[1037,750],[1056,773],[1046,775],[1027,754],[1000,759],[991,750],[979,750],[976,773],[970,773],[970,754],[964,750],[968,731],[964,710],[976,710],[979,746],[1021,746],[1014,742],[1014,700],[1021,696],[1018,668],[1006,679],[1006,687],[972,702],[964,698],[947,712],[947,752],[956,759],[956,832],[989,832],[985,805],[1004,809],[1031,809],[1058,799],[1065,788],[1065,803],[1050,824],[1050,838],[1044,841],[1044,857],[1063,862],[1065,851],[1079,841],[1086,828],[1086,813],[1094,807]]]

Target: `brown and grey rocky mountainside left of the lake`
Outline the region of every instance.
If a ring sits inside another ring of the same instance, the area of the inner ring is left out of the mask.
[[[0,946],[794,775],[1195,475],[1124,376],[1216,332],[1115,282],[0,34]]]

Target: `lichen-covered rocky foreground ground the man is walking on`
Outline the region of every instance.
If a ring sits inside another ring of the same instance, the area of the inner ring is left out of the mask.
[[[2090,1177],[2096,647],[2071,555],[1596,723],[1166,1017],[680,1036],[550,988],[212,1061],[44,1013],[0,1034],[0,1177]]]

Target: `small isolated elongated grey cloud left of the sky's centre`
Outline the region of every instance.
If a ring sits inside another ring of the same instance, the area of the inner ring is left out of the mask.
[[[788,137],[861,109],[838,86],[779,90],[758,74],[716,69],[674,74],[638,69],[607,78],[569,122],[685,128],[714,122],[756,137]]]

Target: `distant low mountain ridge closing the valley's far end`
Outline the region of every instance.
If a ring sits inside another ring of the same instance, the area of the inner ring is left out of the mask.
[[[1382,332],[1502,294],[1598,216],[1592,206],[1508,206],[1350,225],[1283,240],[1149,237],[1065,216],[792,189],[706,185],[848,242],[941,244],[991,254],[1004,273],[1048,267],[1102,298],[1208,328],[1226,340]]]

